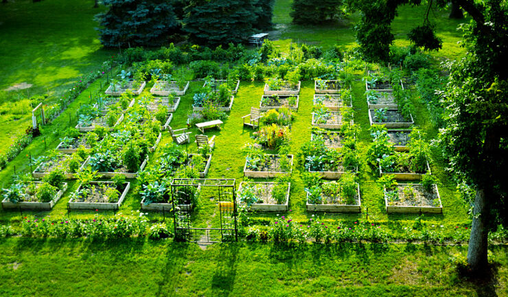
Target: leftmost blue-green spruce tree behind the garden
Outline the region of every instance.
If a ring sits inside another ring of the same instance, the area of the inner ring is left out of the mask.
[[[97,14],[100,41],[106,47],[157,46],[180,28],[174,1],[103,0],[109,9]]]

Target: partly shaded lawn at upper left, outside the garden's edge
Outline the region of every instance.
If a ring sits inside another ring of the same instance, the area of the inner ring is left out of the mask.
[[[0,5],[0,153],[32,123],[25,98],[49,94],[46,102],[54,101],[117,52],[102,48],[93,29],[102,10],[84,0]],[[20,83],[32,87],[5,91]]]

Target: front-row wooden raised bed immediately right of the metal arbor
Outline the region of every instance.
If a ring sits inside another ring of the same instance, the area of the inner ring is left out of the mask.
[[[261,199],[263,203],[252,203],[249,206],[249,210],[251,211],[260,211],[260,212],[284,212],[288,211],[289,207],[289,193],[291,188],[291,183],[288,184],[288,190],[286,191],[286,199],[284,199],[284,203],[277,203],[272,196],[273,188],[277,186],[275,182],[253,182],[253,181],[242,181],[240,183],[240,188],[238,188],[238,192],[242,191],[242,188],[246,185],[255,186],[255,196],[258,199]],[[241,201],[239,203],[242,203]]]

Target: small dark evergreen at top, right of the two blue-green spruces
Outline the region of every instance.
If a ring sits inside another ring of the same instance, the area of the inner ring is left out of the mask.
[[[294,23],[317,25],[336,21],[345,14],[343,0],[294,0],[290,16]]]

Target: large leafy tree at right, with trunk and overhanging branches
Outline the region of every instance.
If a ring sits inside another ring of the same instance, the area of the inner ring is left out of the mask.
[[[444,1],[355,1],[352,5],[362,12],[357,39],[371,61],[387,61],[391,22],[397,6],[406,3],[427,5],[424,24],[411,31],[411,41],[425,50],[441,47],[428,12]],[[448,85],[441,94],[446,128],[440,140],[452,173],[476,190],[467,261],[478,271],[487,267],[488,231],[499,223],[508,225],[508,7],[503,0],[453,3],[472,20],[463,25],[466,56],[448,65]]]

